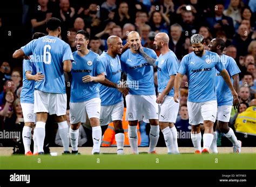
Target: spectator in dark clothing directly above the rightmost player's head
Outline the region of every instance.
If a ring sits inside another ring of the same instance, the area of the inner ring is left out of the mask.
[[[217,31],[223,30],[227,38],[233,38],[234,35],[234,25],[233,19],[231,17],[225,16],[223,14],[224,5],[223,4],[216,4],[215,5],[215,15],[214,17],[206,18],[208,23],[208,27],[215,35]]]

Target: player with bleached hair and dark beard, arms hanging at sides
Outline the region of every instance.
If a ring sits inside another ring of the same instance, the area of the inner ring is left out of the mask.
[[[192,125],[191,139],[196,148],[195,153],[209,153],[208,149],[213,140],[213,123],[217,116],[216,69],[231,89],[234,99],[237,99],[238,95],[218,54],[205,51],[203,35],[192,35],[191,44],[194,52],[183,57],[177,70],[178,74],[174,81],[174,101],[178,102],[179,87],[183,75],[186,74],[188,78],[187,109]],[[200,124],[204,124],[205,127],[202,151]]]

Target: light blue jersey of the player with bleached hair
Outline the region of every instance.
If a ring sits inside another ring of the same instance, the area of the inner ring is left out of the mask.
[[[194,52],[187,54],[181,60],[177,72],[187,75],[188,101],[203,103],[217,100],[215,89],[216,69],[225,69],[217,53],[206,51],[203,56]]]

